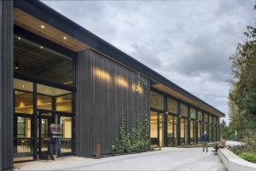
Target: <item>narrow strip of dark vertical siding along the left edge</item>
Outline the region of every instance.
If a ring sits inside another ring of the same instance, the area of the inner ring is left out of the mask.
[[[0,1],[0,170],[13,167],[13,1]]]

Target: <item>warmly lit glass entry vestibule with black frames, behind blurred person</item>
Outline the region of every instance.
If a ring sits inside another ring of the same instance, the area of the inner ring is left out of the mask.
[[[47,157],[51,123],[58,124],[61,132],[60,138],[55,139],[55,156],[72,156],[73,92],[17,78],[14,88],[14,161]]]

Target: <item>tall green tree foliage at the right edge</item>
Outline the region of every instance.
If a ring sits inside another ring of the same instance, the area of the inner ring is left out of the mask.
[[[229,95],[231,131],[247,131],[255,130],[256,128],[255,25],[247,26],[247,31],[244,34],[246,40],[238,44],[236,53],[230,57],[232,61]]]

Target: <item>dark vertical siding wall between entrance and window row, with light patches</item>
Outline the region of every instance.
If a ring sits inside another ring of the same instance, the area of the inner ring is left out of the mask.
[[[96,140],[102,154],[109,153],[121,116],[131,129],[149,112],[149,80],[91,49],[79,52],[76,62],[76,156],[94,155]],[[143,94],[134,89],[138,80]]]

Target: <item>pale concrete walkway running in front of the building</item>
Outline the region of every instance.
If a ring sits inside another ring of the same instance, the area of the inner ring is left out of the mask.
[[[102,159],[62,157],[53,162],[16,163],[15,168],[15,170],[226,170],[218,156],[213,156],[211,153],[202,154],[201,148],[163,148],[161,151]]]

